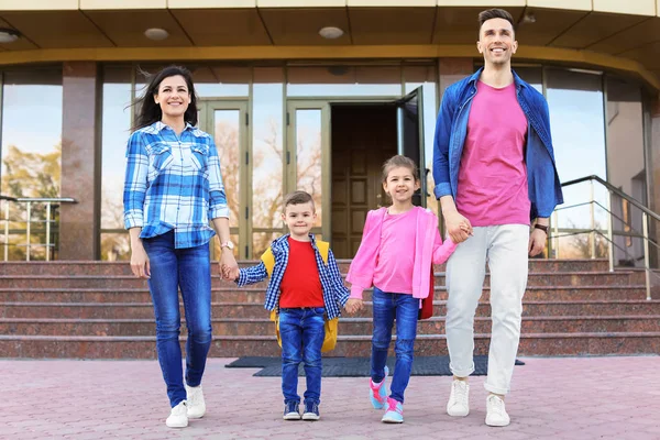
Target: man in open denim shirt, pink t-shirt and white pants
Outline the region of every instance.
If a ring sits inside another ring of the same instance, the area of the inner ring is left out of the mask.
[[[543,250],[548,218],[563,199],[548,105],[512,70],[518,48],[514,20],[491,9],[479,22],[476,48],[484,67],[447,88],[433,146],[436,197],[449,235],[461,243],[447,266],[447,344],[454,376],[447,413],[470,413],[474,314],[487,261],[493,328],[486,425],[507,426],[504,396],[520,339],[528,255]]]

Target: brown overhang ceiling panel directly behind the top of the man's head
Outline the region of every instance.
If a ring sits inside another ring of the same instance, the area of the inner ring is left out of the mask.
[[[479,23],[476,18],[484,8],[438,8],[433,44],[474,44],[479,40]],[[524,8],[507,8],[507,11],[518,21]]]

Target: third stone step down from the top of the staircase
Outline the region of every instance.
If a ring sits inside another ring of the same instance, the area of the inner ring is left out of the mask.
[[[482,300],[490,299],[490,287],[484,288]],[[363,294],[371,300],[372,290]],[[436,299],[447,299],[444,286],[436,287]],[[529,286],[526,300],[580,300],[580,299],[645,299],[644,285],[638,286]],[[265,290],[256,287],[213,287],[215,302],[258,302],[265,300]],[[147,288],[0,288],[0,302],[148,302]]]

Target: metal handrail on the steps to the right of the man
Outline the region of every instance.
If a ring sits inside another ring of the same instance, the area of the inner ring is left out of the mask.
[[[617,197],[620,197],[624,200],[627,200],[628,204],[630,204],[631,206],[638,208],[641,211],[641,223],[642,223],[642,231],[641,234],[626,234],[626,235],[630,235],[630,237],[638,237],[640,239],[642,239],[642,243],[644,243],[644,270],[645,270],[645,274],[646,274],[646,294],[647,294],[647,299],[651,299],[651,280],[650,280],[650,276],[651,274],[653,276],[657,276],[660,279],[660,276],[656,273],[652,272],[651,267],[650,267],[650,253],[649,253],[649,245],[652,244],[656,248],[659,248],[658,244],[654,242],[654,240],[651,240],[651,238],[649,237],[649,219],[651,220],[656,220],[656,221],[660,221],[660,215],[658,215],[657,212],[651,211],[649,208],[645,207],[640,201],[638,201],[637,199],[635,199],[634,197],[627,195],[626,193],[622,191],[620,189],[618,189],[617,187],[615,187],[614,185],[609,184],[608,182],[603,180],[601,177],[595,176],[595,175],[591,175],[591,176],[585,176],[585,177],[581,177],[578,179],[573,179],[573,180],[569,180],[569,182],[564,182],[563,184],[561,184],[562,187],[568,187],[568,186],[572,186],[572,185],[578,185],[578,184],[582,184],[588,182],[591,184],[591,200],[588,202],[582,202],[582,204],[576,204],[573,206],[569,206],[569,207],[558,207],[556,208],[554,212],[553,212],[553,219],[554,219],[554,227],[552,228],[553,233],[549,234],[548,240],[550,243],[552,243],[550,240],[553,239],[557,242],[559,241],[560,237],[564,237],[564,235],[560,235],[559,234],[559,226],[558,226],[558,212],[560,210],[565,210],[569,208],[575,208],[575,207],[580,207],[580,206],[585,206],[585,205],[590,205],[591,207],[591,229],[586,229],[584,230],[584,232],[590,233],[590,244],[591,244],[591,257],[595,258],[595,237],[596,233],[601,237],[603,237],[608,243],[609,245],[608,248],[608,261],[609,261],[609,272],[614,272],[615,267],[614,267],[614,248],[616,246],[617,249],[620,249],[626,256],[631,256],[630,253],[628,251],[626,251],[625,249],[622,249],[620,246],[618,246],[615,242],[614,242],[614,231],[613,231],[613,221],[612,218],[616,218],[617,220],[619,220],[620,222],[623,222],[625,226],[627,226],[628,228],[630,228],[631,231],[634,231],[632,226],[629,224],[627,221],[625,221],[624,219],[619,218],[618,216],[616,216],[614,212],[612,212],[612,195],[615,195]],[[603,205],[601,205],[598,201],[595,200],[594,198],[594,182],[597,182],[598,184],[603,185],[608,191],[609,191],[609,198],[608,198],[608,207],[604,207]],[[601,232],[601,230],[597,230],[595,227],[595,213],[594,213],[594,207],[598,206],[601,207],[603,210],[605,210],[605,212],[607,212],[608,217],[608,221],[607,221],[607,235],[603,234],[603,232]],[[618,234],[617,235],[622,235]],[[557,248],[559,248],[557,245]],[[634,257],[634,260],[636,260]]]

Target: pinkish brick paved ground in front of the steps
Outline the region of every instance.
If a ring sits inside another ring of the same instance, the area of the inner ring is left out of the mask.
[[[209,360],[208,411],[169,429],[154,361],[0,360],[1,439],[660,439],[660,356],[522,359],[507,409],[512,425],[484,425],[483,377],[472,413],[444,414],[450,377],[418,377],[406,422],[380,422],[365,378],[323,378],[321,420],[284,421],[278,377]]]

